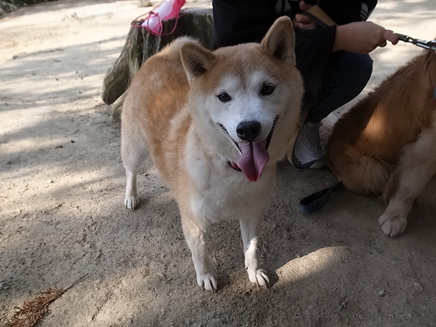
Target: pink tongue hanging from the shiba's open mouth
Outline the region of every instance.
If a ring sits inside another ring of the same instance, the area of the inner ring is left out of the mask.
[[[265,150],[267,139],[257,143],[238,143],[242,154],[236,165],[242,169],[249,181],[258,181],[262,170],[269,162],[269,153]]]

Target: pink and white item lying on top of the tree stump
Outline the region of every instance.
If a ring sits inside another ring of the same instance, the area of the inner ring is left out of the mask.
[[[185,2],[186,0],[162,1],[153,11],[148,13],[141,26],[145,27],[150,34],[157,36],[162,35],[162,21],[178,18],[180,9],[184,6]]]

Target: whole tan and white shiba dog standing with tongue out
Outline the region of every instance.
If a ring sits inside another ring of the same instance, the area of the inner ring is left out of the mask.
[[[150,57],[129,86],[122,112],[124,204],[138,204],[136,172],[153,159],[179,205],[199,286],[214,292],[210,224],[241,223],[245,269],[268,286],[257,241],[276,162],[296,134],[302,79],[294,34],[279,18],[260,44],[208,51],[188,37]]]

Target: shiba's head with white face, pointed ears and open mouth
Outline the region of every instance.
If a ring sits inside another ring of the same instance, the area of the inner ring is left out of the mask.
[[[300,113],[302,80],[290,19],[278,18],[260,44],[211,52],[186,43],[181,60],[200,139],[258,181],[268,162],[283,158]]]

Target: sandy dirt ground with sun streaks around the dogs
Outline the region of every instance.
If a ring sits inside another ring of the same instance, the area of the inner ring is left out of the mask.
[[[146,10],[59,0],[0,19],[0,325],[35,293],[89,274],[38,326],[436,326],[434,212],[413,208],[397,238],[378,226],[383,202],[345,189],[300,214],[300,198],[335,181],[328,169],[279,166],[260,245],[268,290],[248,281],[238,222],[210,235],[219,291],[198,288],[177,205],[150,162],[141,207],[124,208],[120,127],[101,84]],[[380,0],[371,20],[434,39],[435,16],[434,0]],[[366,91],[420,51],[374,51]]]

